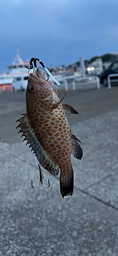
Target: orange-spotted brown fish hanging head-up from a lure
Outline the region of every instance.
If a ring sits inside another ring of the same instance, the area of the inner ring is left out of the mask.
[[[79,114],[72,105],[60,100],[57,89],[46,80],[39,69],[31,73],[26,90],[27,113],[17,121],[25,136],[23,141],[34,151],[40,165],[54,176],[60,171],[60,192],[63,198],[73,195],[74,171],[71,155],[82,159],[81,142],[72,134],[66,115]]]

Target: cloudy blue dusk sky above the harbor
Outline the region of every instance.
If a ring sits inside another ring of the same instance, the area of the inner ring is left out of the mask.
[[[46,67],[118,52],[117,0],[1,0],[0,6],[0,71],[16,46],[23,61],[37,57]]]

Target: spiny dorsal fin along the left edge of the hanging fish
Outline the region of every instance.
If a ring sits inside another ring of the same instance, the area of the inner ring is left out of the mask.
[[[31,151],[34,151],[34,154],[36,154],[36,157],[42,167],[45,170],[48,170],[49,173],[57,176],[59,174],[59,166],[57,163],[52,161],[50,155],[44,150],[44,147],[37,139],[36,134],[32,126],[30,125],[27,114],[23,114],[23,116],[17,121],[20,123],[18,124],[16,129],[21,128],[18,133],[22,133],[21,137],[25,136],[25,139],[23,139],[23,141],[27,140],[27,144],[30,144],[29,147],[32,147]]]

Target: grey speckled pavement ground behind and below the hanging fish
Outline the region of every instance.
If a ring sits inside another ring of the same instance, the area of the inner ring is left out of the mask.
[[[38,162],[15,124],[26,112],[25,95],[0,95],[0,255],[118,255],[117,93],[118,87],[68,92],[65,103],[80,113],[69,116],[69,123],[83,158],[72,156],[74,194],[66,199],[59,177],[45,170],[50,188],[31,187],[31,179],[34,186],[39,181]]]

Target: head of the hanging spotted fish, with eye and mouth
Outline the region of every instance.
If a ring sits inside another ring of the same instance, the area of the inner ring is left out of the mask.
[[[27,90],[26,90],[26,105],[27,112],[35,108],[39,109],[40,105],[45,108],[45,101],[51,105],[53,101],[53,89],[49,81],[45,79],[42,73],[36,69],[31,73],[28,78]]]

